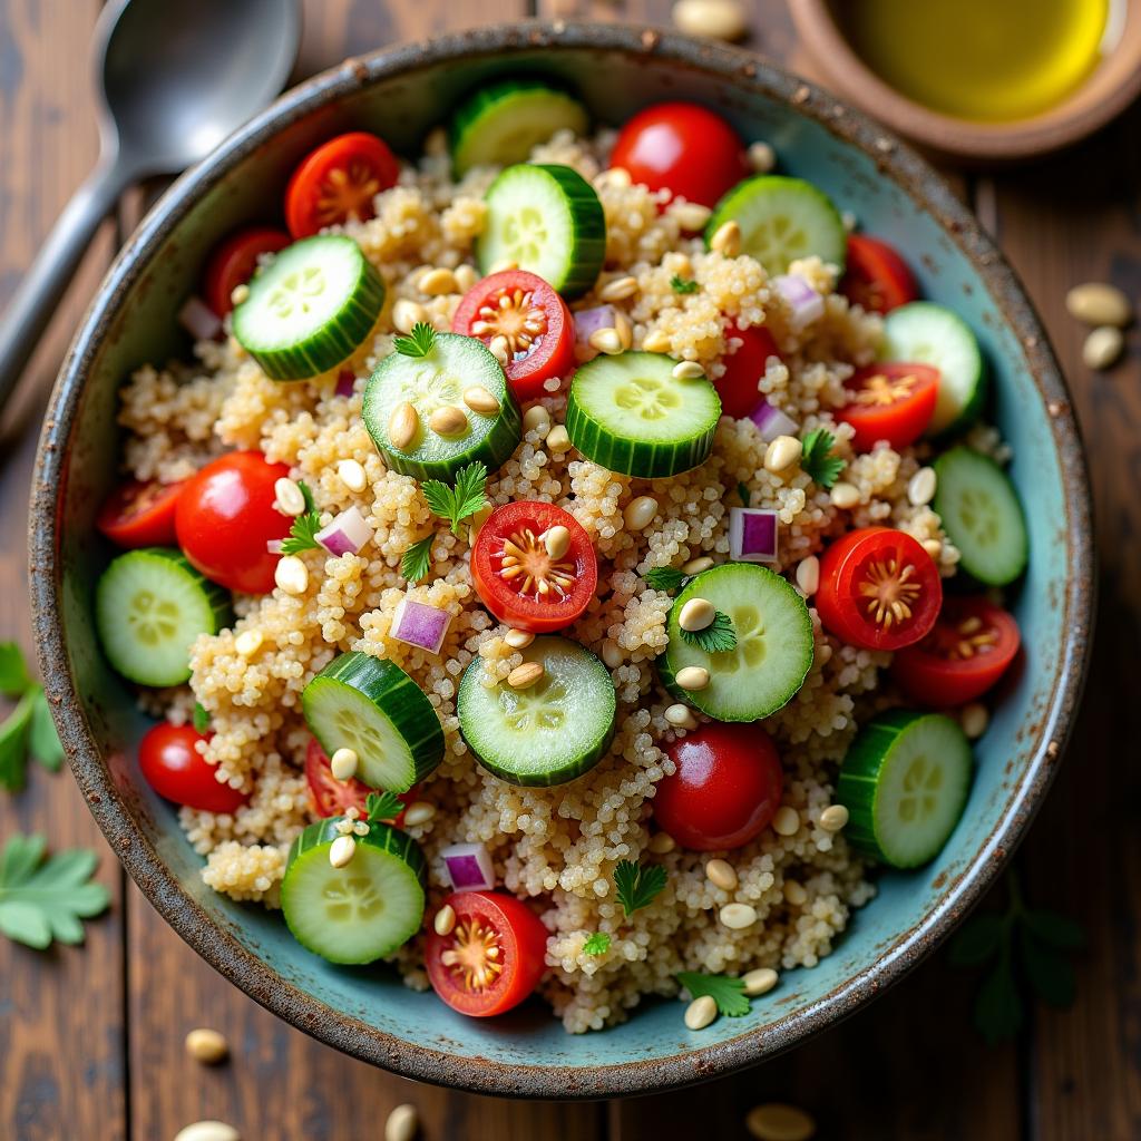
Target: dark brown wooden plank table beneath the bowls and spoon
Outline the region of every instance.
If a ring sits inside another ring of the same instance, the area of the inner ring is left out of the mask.
[[[395,40],[534,15],[527,0],[310,0],[299,75]],[[87,57],[98,0],[0,0],[0,301],[96,153]],[[667,0],[540,0],[540,15],[665,23]],[[758,0],[754,46],[794,49],[780,0]],[[1136,108],[1135,108],[1136,110]],[[1030,895],[1090,932],[1078,998],[1037,1010],[1015,1043],[981,1044],[972,980],[941,957],[872,1009],[793,1054],[681,1094],[612,1104],[527,1104],[416,1086],[350,1061],[275,1020],[201,962],[127,880],[66,775],[34,770],[0,794],[0,836],[41,830],[103,853],[114,896],[87,945],[37,954],[0,939],[0,1138],[164,1141],[202,1117],[252,1141],[380,1136],[397,1102],[427,1141],[744,1138],[752,1104],[811,1109],[822,1138],[1141,1136],[1141,357],[1109,375],[1081,363],[1067,286],[1112,280],[1141,293],[1141,115],[1035,169],[958,185],[1029,288],[1070,378],[1091,443],[1100,524],[1098,654],[1070,755],[1021,860]],[[130,216],[130,207],[123,217]],[[52,377],[122,227],[108,222],[0,426],[0,639],[29,642],[25,500]],[[1131,712],[1132,711],[1132,712]],[[233,1062],[183,1051],[193,1026],[225,1031]],[[698,1133],[698,1131],[701,1131]]]

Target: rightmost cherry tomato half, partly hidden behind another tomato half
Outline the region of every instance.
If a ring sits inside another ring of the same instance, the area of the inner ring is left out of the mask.
[[[921,642],[891,663],[899,687],[924,705],[963,705],[1005,673],[1019,646],[1018,623],[985,598],[948,598]]]

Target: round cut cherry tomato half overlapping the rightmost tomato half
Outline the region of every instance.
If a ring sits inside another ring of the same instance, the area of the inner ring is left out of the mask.
[[[816,609],[825,626],[851,646],[911,646],[931,632],[941,605],[938,568],[903,531],[850,531],[820,559]]]

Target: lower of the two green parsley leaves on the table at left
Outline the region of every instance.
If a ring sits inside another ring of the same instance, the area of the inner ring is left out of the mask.
[[[0,931],[42,950],[52,939],[83,941],[83,924],[111,901],[102,883],[91,882],[98,859],[73,848],[43,858],[43,836],[16,833],[0,855]]]

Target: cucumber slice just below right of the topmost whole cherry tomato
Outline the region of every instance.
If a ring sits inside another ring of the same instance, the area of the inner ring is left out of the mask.
[[[844,268],[848,232],[824,191],[802,178],[759,175],[738,183],[717,204],[705,242],[730,219],[741,226],[741,250],[770,276],[788,272],[798,258],[817,253]]]

